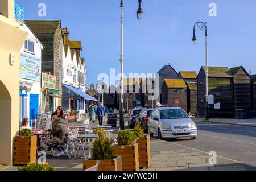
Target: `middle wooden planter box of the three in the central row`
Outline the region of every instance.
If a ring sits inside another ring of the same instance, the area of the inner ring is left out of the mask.
[[[122,156],[123,171],[139,171],[139,148],[135,143],[132,146],[112,146],[114,155]]]

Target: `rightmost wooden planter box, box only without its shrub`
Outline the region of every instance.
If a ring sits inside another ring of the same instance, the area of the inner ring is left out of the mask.
[[[150,136],[139,137],[139,167],[148,168],[150,166]]]

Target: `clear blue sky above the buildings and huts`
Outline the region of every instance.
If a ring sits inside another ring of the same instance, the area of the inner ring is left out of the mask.
[[[26,9],[27,20],[60,19],[70,39],[81,40],[88,71],[87,86],[99,73],[119,73],[120,0],[16,0]],[[38,16],[38,4],[46,3],[46,17]],[[208,14],[216,3],[217,16]],[[209,65],[243,65],[256,73],[255,0],[142,0],[144,17],[136,18],[137,0],[124,3],[124,72],[156,73],[170,63],[177,72],[199,72],[205,64],[204,32],[191,42],[193,25],[208,22]]]

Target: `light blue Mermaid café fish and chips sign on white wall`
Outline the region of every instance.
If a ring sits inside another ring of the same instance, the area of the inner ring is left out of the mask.
[[[20,53],[19,77],[40,82],[41,59],[27,53]]]

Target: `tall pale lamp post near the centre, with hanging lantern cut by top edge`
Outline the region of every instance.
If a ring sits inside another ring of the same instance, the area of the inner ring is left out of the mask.
[[[142,19],[143,16],[143,10],[141,8],[141,3],[142,0],[139,0],[139,8],[137,11],[137,18],[138,20]],[[120,129],[124,130],[125,129],[125,121],[123,118],[124,114],[124,109],[123,109],[123,0],[120,2],[120,7],[121,7],[121,54],[120,54],[120,63],[121,63],[121,78],[120,78]]]

